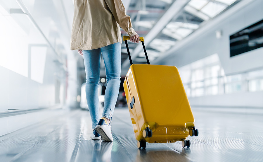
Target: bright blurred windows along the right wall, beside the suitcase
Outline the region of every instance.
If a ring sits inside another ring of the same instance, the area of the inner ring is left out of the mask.
[[[217,54],[178,70],[188,97],[263,91],[263,69],[226,76]]]

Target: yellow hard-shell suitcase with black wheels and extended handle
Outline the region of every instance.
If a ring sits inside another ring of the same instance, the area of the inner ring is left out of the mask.
[[[197,136],[195,120],[183,83],[175,66],[132,64],[127,40],[123,37],[131,66],[124,81],[124,91],[138,148],[146,142],[167,143],[182,141],[189,147],[186,137]]]

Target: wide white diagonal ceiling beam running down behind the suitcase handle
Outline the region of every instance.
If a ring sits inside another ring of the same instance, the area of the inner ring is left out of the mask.
[[[181,10],[188,4],[190,0],[176,0],[174,3],[168,8],[168,10],[163,14],[163,16],[159,19],[157,23],[153,26],[153,28],[149,31],[149,33],[144,37],[145,46],[149,45],[150,42],[162,31],[162,29],[172,20],[174,17],[179,17],[179,13]],[[131,57],[136,58],[143,50],[141,45],[137,45],[134,49]],[[129,66],[129,59],[126,59],[123,64],[123,67]]]

